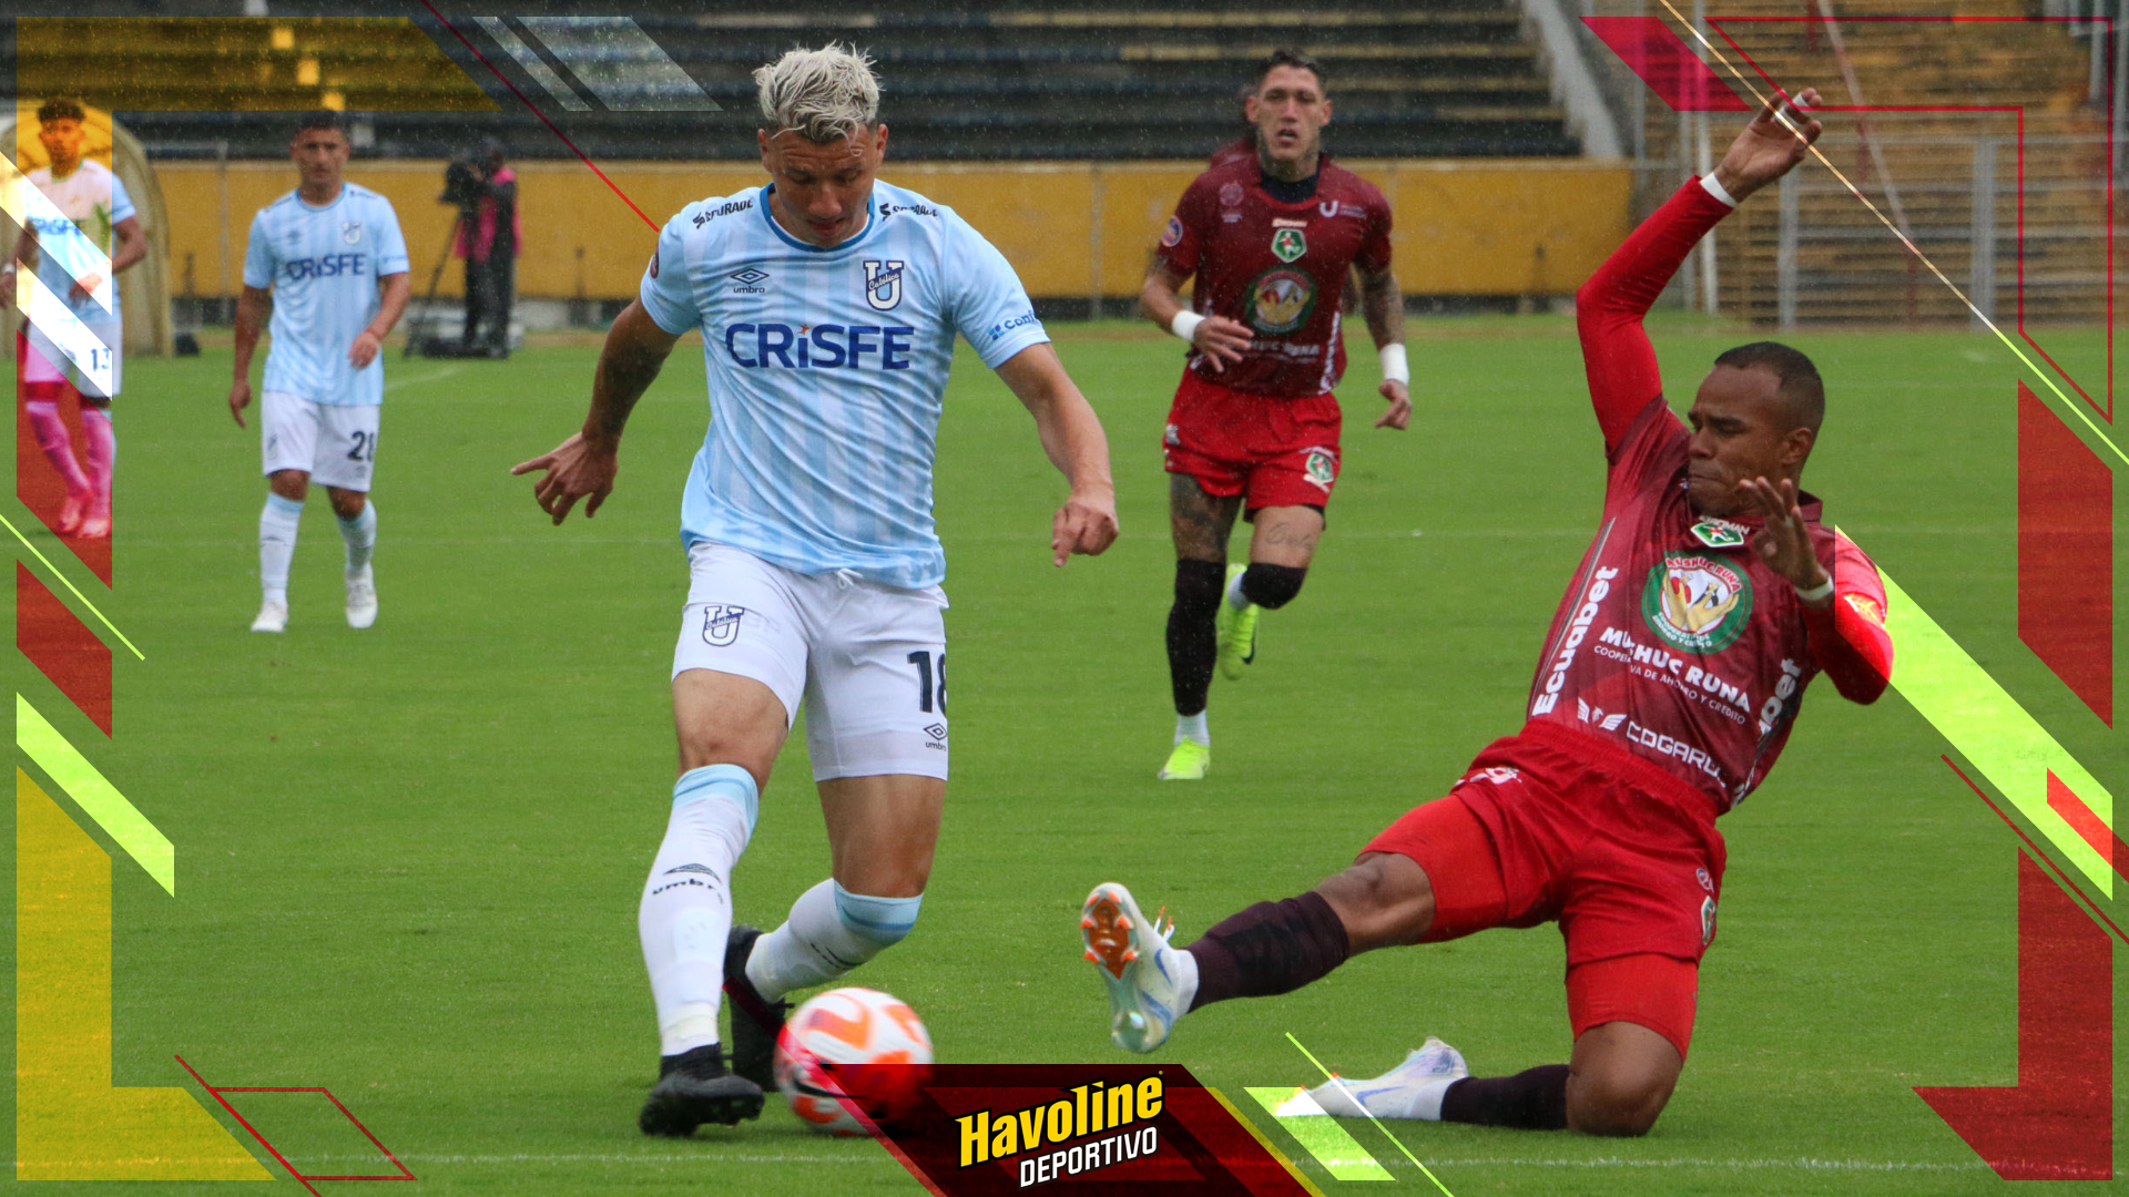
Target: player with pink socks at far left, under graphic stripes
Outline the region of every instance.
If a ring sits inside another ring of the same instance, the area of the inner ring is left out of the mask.
[[[26,236],[15,253],[51,294],[64,296],[66,311],[81,322],[96,347],[87,349],[89,362],[75,362],[38,322],[40,313],[30,311],[15,354],[36,447],[66,481],[60,535],[94,539],[111,535],[111,475],[117,464],[111,398],[119,392],[123,371],[123,328],[115,277],[147,258],[147,234],[141,232],[126,183],[102,162],[81,155],[83,119],[77,100],[51,98],[38,104],[36,138],[45,145],[49,164],[30,170],[30,183],[64,219],[30,209]],[[0,275],[0,302],[15,302],[17,266],[9,264]],[[66,317],[45,315],[45,324],[53,319]],[[68,388],[81,400],[87,471],[75,460],[72,437],[60,415]]]

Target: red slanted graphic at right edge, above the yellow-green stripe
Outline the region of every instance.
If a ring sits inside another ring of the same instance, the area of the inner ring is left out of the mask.
[[[2114,473],[2023,381],[2018,639],[2114,726]]]

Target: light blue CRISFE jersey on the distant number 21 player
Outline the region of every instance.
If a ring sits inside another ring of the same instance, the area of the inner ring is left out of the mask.
[[[273,347],[264,390],[311,403],[377,407],[385,398],[385,356],[364,368],[347,349],[377,317],[377,279],[407,273],[407,241],[392,202],[341,183],[321,209],[290,192],[251,217],[245,285],[273,288]]]

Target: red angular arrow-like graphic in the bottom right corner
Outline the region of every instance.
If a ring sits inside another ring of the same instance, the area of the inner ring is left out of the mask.
[[[2114,1176],[2114,944],[2018,854],[2018,1084],[1916,1086],[2003,1180]]]

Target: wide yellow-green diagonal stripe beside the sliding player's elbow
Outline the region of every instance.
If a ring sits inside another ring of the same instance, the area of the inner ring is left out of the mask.
[[[1878,571],[1888,598],[1884,630],[1893,637],[1893,688],[1914,703],[1961,756],[1974,763],[2025,818],[2069,860],[2114,897],[2114,869],[2063,816],[2048,807],[2048,771],[2110,829],[2114,797],[2091,775],[2048,728],[2012,699],[1967,650],[1959,647],[1893,575]]]

